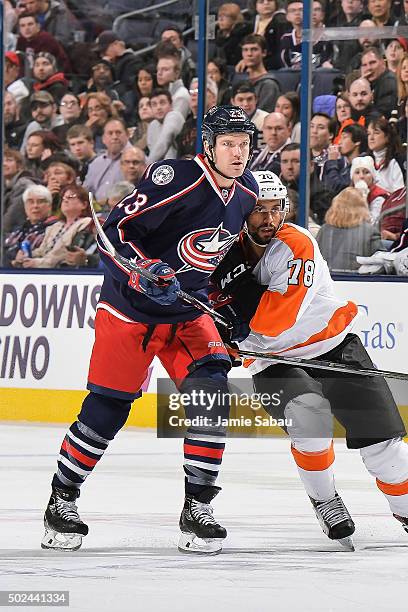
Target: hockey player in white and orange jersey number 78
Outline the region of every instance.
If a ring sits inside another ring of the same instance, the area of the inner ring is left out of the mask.
[[[259,199],[246,233],[212,275],[248,323],[231,340],[248,351],[319,358],[372,368],[359,337],[352,333],[353,302],[336,296],[317,242],[302,227],[284,223],[286,188],[272,172],[254,172]],[[243,336],[246,336],[245,338]],[[333,415],[346,430],[347,446],[360,449],[369,473],[408,532],[408,446],[406,431],[382,377],[246,360],[255,390],[280,389],[278,407],[266,410],[291,421],[287,433],[300,478],[324,533],[353,550],[354,523],[334,481]]]

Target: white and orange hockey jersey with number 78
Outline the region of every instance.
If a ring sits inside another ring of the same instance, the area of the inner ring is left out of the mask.
[[[336,296],[318,244],[302,227],[285,223],[253,273],[268,289],[241,350],[311,359],[335,348],[352,329],[357,306]],[[248,359],[244,365],[256,374],[271,364]]]

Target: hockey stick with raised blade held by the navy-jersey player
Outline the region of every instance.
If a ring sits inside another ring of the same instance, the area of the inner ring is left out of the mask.
[[[143,276],[144,278],[147,278],[148,280],[152,281],[153,283],[155,283],[159,287],[160,286],[162,286],[162,287],[166,286],[167,282],[165,280],[163,280],[162,278],[160,278],[160,276],[157,276],[157,274],[153,274],[152,272],[149,272],[149,270],[145,270],[144,268],[140,268],[137,265],[137,263],[135,263],[134,261],[131,261],[130,259],[127,259],[126,257],[123,257],[122,255],[120,255],[116,251],[115,247],[110,242],[110,240],[107,237],[107,235],[105,234],[105,232],[104,232],[104,230],[102,228],[102,225],[101,225],[101,223],[100,223],[100,221],[99,221],[99,219],[98,219],[98,217],[96,215],[95,208],[94,208],[94,199],[93,199],[93,195],[92,195],[91,192],[88,193],[88,197],[89,197],[89,204],[90,204],[90,207],[91,207],[92,217],[93,217],[93,220],[94,220],[94,223],[95,223],[96,231],[98,232],[98,236],[102,240],[103,246],[108,251],[109,255],[115,261],[120,263],[121,266],[126,268],[126,270],[128,272],[137,272],[138,274],[140,274],[140,276]],[[210,317],[215,319],[217,321],[217,323],[219,323],[220,325],[223,325],[226,329],[230,329],[231,328],[231,324],[227,321],[227,319],[225,319],[222,315],[218,314],[215,310],[210,308],[210,306],[207,306],[207,304],[204,304],[203,302],[201,302],[200,300],[198,300],[194,296],[190,295],[189,293],[186,293],[185,291],[182,291],[182,289],[179,289],[177,291],[177,295],[178,295],[179,298],[181,298],[182,300],[184,300],[188,304],[191,304],[192,306],[194,306],[198,310],[201,310],[201,312],[204,312],[205,314],[208,314]]]

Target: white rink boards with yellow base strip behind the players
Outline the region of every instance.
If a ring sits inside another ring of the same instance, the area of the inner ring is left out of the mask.
[[[96,274],[0,274],[0,420],[64,423],[79,412],[101,281]],[[355,332],[374,363],[408,372],[408,285],[336,280],[336,288],[358,304]],[[165,376],[154,363],[128,425],[155,427],[156,381]],[[231,376],[248,374],[234,368]],[[393,381],[392,390],[408,424],[408,383]]]

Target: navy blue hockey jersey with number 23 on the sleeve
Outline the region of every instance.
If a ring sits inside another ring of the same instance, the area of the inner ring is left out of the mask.
[[[257,195],[249,170],[225,190],[200,155],[164,160],[147,168],[137,190],[111,211],[104,230],[118,253],[128,259],[165,261],[184,291],[207,301],[208,276],[237,238]],[[161,306],[128,287],[129,273],[98,242],[107,268],[98,308],[144,323],[177,323],[200,316],[181,300]]]

